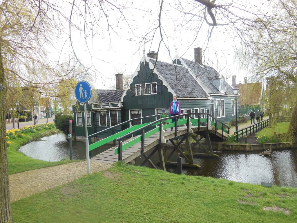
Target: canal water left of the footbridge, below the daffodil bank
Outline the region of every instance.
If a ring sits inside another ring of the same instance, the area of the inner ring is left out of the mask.
[[[93,150],[93,154],[97,155],[110,147],[111,145],[105,145],[97,148]],[[85,142],[73,141],[72,148],[73,159],[86,159]],[[34,159],[60,161],[63,158],[69,157],[69,141],[65,140],[64,134],[55,134],[52,136],[45,136],[35,142],[30,142],[20,147],[19,151]]]

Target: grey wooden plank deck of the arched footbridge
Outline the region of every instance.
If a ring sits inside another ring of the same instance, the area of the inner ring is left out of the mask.
[[[191,128],[192,128],[193,132],[198,131],[198,127],[196,127],[196,126],[192,126]],[[174,128],[173,128],[173,130],[174,130]],[[205,130],[207,130],[207,127],[200,127],[200,131],[205,131]],[[186,133],[187,133],[186,126],[178,127],[177,136],[181,136]],[[137,136],[131,137],[130,139],[124,141],[123,144],[129,142],[130,140],[132,140],[136,137]],[[168,129],[165,132],[164,138],[166,140],[175,138],[175,132],[170,131],[170,129]],[[150,137],[145,139],[144,152],[150,150],[151,148],[157,146],[158,144],[159,144],[159,133],[151,135]],[[91,158],[91,160],[97,161],[97,162],[102,162],[102,163],[113,164],[119,160],[118,154],[115,155],[115,148],[117,148],[117,147],[118,146],[111,147],[110,149],[104,151],[103,153],[99,153],[98,155],[94,156],[93,158]],[[122,152],[122,160],[124,161],[124,163],[128,163],[140,155],[141,155],[141,142],[138,142],[135,145],[129,147],[128,149],[126,149]]]

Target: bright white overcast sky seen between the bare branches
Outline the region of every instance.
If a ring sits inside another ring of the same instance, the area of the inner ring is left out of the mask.
[[[169,2],[171,3],[171,1]],[[194,6],[198,4],[195,1],[190,2],[193,2]],[[226,0],[226,2],[230,1]],[[63,3],[65,14],[70,15],[70,4],[66,1],[60,1],[60,3]],[[258,5],[261,6],[259,0],[244,1],[244,3],[248,3],[249,6],[252,6],[250,10],[259,10]],[[78,5],[82,11],[84,9],[83,4],[84,1],[81,1]],[[243,3],[240,4],[242,5]],[[127,6],[131,6],[130,2],[127,2]],[[157,28],[159,1],[133,1],[132,6],[134,8],[123,11],[126,16],[125,19],[116,9],[107,11],[109,24],[111,25],[109,30],[107,29],[108,26],[105,17],[100,17],[97,7],[92,8],[94,17],[101,18],[101,20],[98,26],[93,26],[95,32],[90,33],[87,37],[87,42],[84,39],[83,32],[78,32],[75,28],[72,28],[72,44],[79,59],[84,64],[92,67],[92,70],[100,72],[97,73],[97,78],[93,83],[96,88],[109,89],[111,86],[115,86],[114,75],[116,73],[123,73],[124,75],[134,73],[143,56],[144,49],[145,53],[157,51],[160,40],[159,30],[157,29],[154,39],[147,41],[146,44],[144,44],[143,37],[145,37],[148,32],[154,30],[154,28]],[[189,4],[186,6],[193,7]],[[164,43],[161,43],[158,59],[171,62],[171,58],[175,56],[175,44],[177,46],[178,56],[182,56],[186,59],[193,59],[194,48],[201,47],[203,50],[206,49],[204,54],[205,62],[213,66],[224,76],[228,73],[230,78],[227,79],[227,81],[229,83],[232,83],[231,75],[236,75],[237,82],[243,82],[244,76],[250,77],[247,71],[240,70],[237,63],[234,63],[235,47],[239,47],[240,40],[236,34],[230,32],[228,26],[214,27],[211,32],[211,37],[209,37],[209,32],[212,27],[204,22],[202,26],[199,26],[200,29],[198,31],[197,25],[199,22],[189,21],[186,23],[185,21],[189,19],[189,16],[185,16],[184,13],[174,10],[176,7],[179,6],[174,3],[173,5],[164,4],[161,25],[166,46]],[[197,12],[198,9],[199,8],[197,8]],[[184,10],[187,9],[184,8]],[[236,12],[236,9],[232,10]],[[200,12],[200,14],[203,15],[202,12]],[[72,16],[72,21],[79,25],[81,23],[81,17],[79,17],[80,16]],[[90,20],[88,19],[87,24],[89,22]],[[179,25],[181,22],[185,24],[182,29]],[[53,61],[57,61],[58,57],[60,57],[60,62],[62,62],[69,57],[70,46],[69,39],[67,39],[67,34],[69,34],[68,26],[69,25],[65,23],[65,28],[63,29],[65,34],[63,34],[63,32],[59,33],[60,42],[55,44],[55,47],[50,50],[52,53],[50,59]],[[152,33],[148,35],[147,40],[149,40],[151,36]],[[169,51],[166,47],[168,47]],[[60,54],[60,52],[62,53]]]

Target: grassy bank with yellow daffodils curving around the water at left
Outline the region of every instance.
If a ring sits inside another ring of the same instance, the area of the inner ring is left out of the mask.
[[[47,162],[38,159],[33,159],[31,157],[26,156],[23,153],[18,152],[18,149],[22,145],[28,143],[29,141],[34,141],[43,136],[49,136],[58,132],[60,131],[56,129],[53,123],[25,126],[20,129],[7,130],[6,140],[9,174],[73,162],[69,160]]]

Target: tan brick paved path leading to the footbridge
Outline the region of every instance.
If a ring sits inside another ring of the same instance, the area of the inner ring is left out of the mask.
[[[90,161],[91,173],[112,167],[112,164]],[[20,200],[87,175],[86,161],[34,169],[9,175],[10,202]]]

